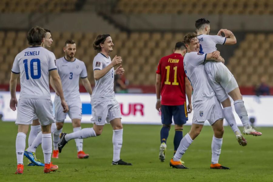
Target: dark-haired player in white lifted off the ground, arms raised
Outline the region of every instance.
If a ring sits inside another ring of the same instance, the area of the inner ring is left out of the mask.
[[[200,53],[209,53],[217,50],[216,44],[231,45],[236,44],[236,38],[234,34],[227,30],[221,29],[217,35],[208,35],[210,32],[210,22],[207,19],[201,18],[195,22],[195,27],[200,43]],[[225,34],[225,37],[221,36],[221,33]],[[243,97],[240,93],[238,84],[228,70],[228,68],[221,62],[208,61],[205,63],[205,70],[207,73],[208,81],[214,89],[218,100],[221,102],[224,108],[224,116],[231,126],[231,129],[236,135],[236,138],[240,145],[247,145],[247,141],[242,136],[238,126],[236,124],[234,115],[232,113],[231,101],[228,95],[234,100],[235,112],[243,123],[244,134],[253,136],[261,136],[261,132],[254,130],[248,120],[248,113],[244,106]]]

